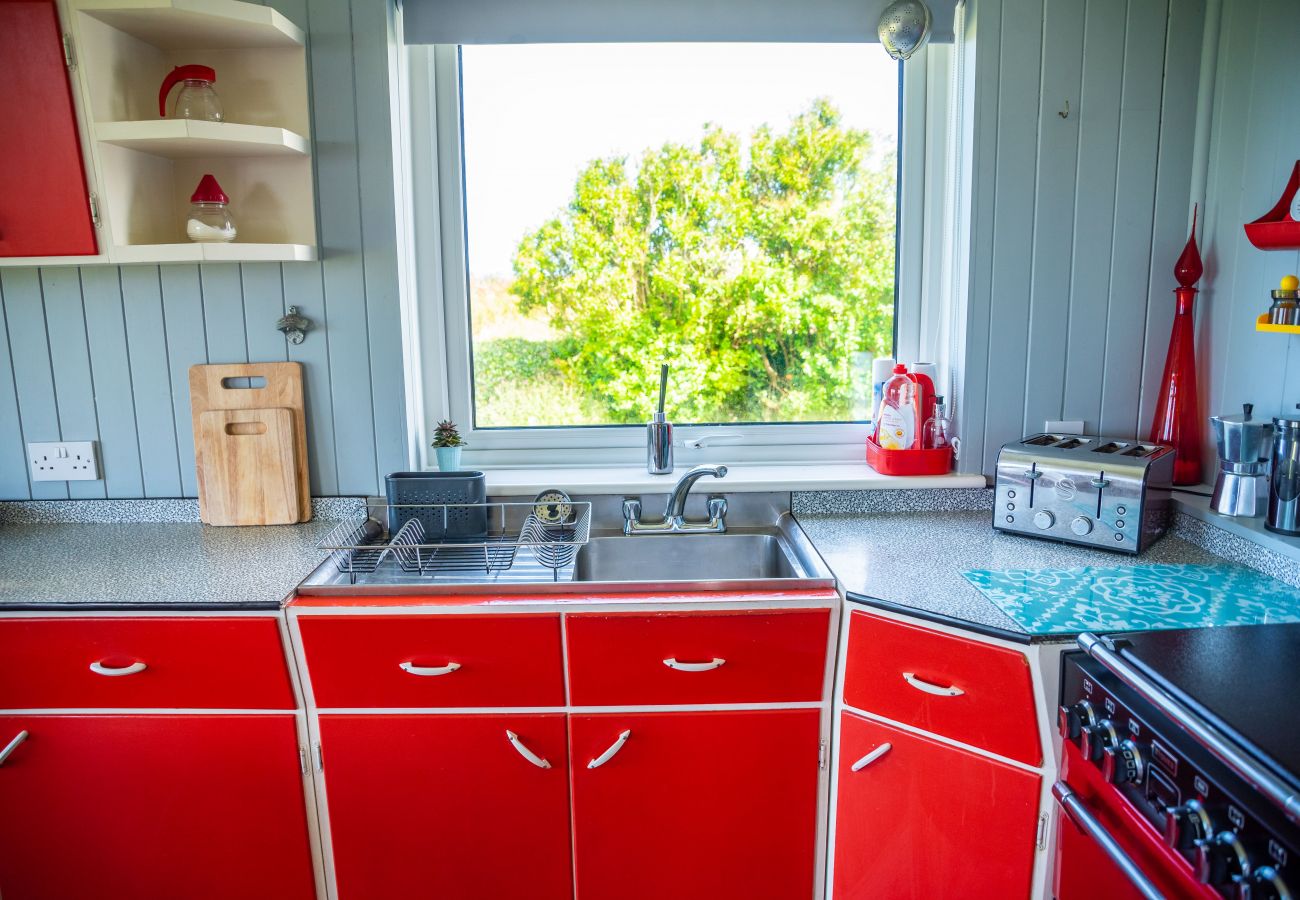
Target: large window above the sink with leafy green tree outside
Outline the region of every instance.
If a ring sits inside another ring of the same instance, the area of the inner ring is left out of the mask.
[[[896,355],[901,68],[878,44],[411,51],[441,211],[425,419],[476,464],[630,463],[668,363],[679,443],[861,458]],[[419,129],[412,152],[420,230]]]

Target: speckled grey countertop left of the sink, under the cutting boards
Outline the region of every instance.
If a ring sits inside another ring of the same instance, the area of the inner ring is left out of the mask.
[[[337,523],[0,525],[0,609],[277,609]]]

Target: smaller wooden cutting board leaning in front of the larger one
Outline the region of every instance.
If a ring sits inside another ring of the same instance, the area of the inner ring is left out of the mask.
[[[286,525],[299,520],[291,410],[208,410],[195,459],[209,525]]]

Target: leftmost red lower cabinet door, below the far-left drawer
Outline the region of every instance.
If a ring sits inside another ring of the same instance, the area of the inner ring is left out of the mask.
[[[0,895],[316,893],[290,715],[6,715]]]

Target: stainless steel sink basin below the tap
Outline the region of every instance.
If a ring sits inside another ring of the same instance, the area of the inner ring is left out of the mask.
[[[811,577],[777,533],[619,535],[577,553],[575,581],[732,581]]]

